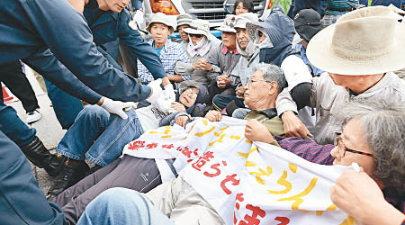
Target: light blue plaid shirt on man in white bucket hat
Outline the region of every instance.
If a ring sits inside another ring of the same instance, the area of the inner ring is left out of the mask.
[[[152,45],[153,40],[149,40],[149,43]],[[152,45],[153,46],[153,45]],[[189,62],[190,59],[185,53],[182,46],[174,41],[167,40],[165,46],[160,51],[160,60],[162,61],[163,67],[165,68],[166,76],[175,75],[175,63],[177,61]],[[149,83],[154,80],[152,74],[148,71],[148,68],[145,67],[139,59],[138,63],[138,76],[142,83]],[[190,76],[182,76],[184,80],[189,80]]]

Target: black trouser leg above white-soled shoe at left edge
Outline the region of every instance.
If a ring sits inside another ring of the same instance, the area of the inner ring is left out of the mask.
[[[1,64],[0,81],[20,99],[26,112],[40,108],[31,84],[23,73],[23,65],[20,61]],[[3,102],[3,92],[0,92],[0,97],[0,101]]]

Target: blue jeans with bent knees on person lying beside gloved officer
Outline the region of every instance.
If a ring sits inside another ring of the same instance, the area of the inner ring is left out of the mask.
[[[86,157],[106,166],[121,156],[126,144],[143,133],[137,113],[133,109],[126,113],[128,119],[122,120],[100,106],[85,106],[60,140],[57,152],[76,160]]]

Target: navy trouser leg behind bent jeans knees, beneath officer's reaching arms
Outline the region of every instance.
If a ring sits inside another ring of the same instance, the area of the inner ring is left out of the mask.
[[[63,129],[68,129],[75,122],[77,114],[83,110],[82,102],[66,92],[62,91],[58,86],[50,83],[46,78],[43,78],[47,87],[48,96],[52,102],[52,108],[57,119]]]

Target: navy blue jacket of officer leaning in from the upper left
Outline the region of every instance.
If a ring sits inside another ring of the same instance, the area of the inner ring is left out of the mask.
[[[85,17],[67,1],[2,0],[0,15],[0,64],[22,59],[50,82],[88,103],[95,103],[100,94],[132,102],[148,98],[150,87],[113,68],[97,51]]]

